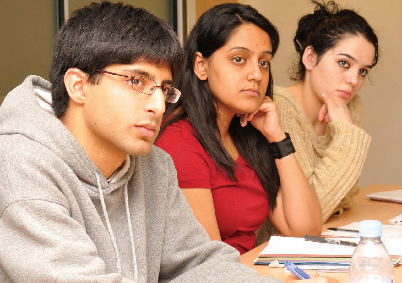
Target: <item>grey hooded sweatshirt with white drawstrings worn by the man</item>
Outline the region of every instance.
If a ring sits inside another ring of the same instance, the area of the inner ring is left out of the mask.
[[[210,241],[153,146],[106,180],[29,76],[0,107],[0,282],[280,282]]]

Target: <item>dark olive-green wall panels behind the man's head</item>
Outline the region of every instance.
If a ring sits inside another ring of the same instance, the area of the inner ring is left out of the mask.
[[[69,11],[94,0],[68,0]],[[111,0],[111,2],[119,2]],[[171,23],[170,0],[125,0]],[[48,79],[56,33],[56,0],[0,1],[0,103],[6,94],[35,74]]]

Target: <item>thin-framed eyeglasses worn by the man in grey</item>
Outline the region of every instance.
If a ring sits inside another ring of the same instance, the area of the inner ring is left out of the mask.
[[[125,78],[131,78],[131,87],[136,91],[139,91],[140,93],[152,94],[154,93],[155,89],[159,87],[158,85],[156,85],[156,81],[151,80],[150,78],[147,78],[145,76],[126,76],[104,70],[95,70],[95,71],[106,74],[112,74],[115,76],[123,76]],[[160,87],[160,89],[162,89],[162,92],[165,96],[165,101],[167,102],[175,103],[180,98],[181,92],[174,87],[166,86],[166,87]]]

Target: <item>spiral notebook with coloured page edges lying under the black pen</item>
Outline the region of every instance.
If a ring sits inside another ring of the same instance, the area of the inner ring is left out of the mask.
[[[359,238],[342,238],[359,242]],[[381,238],[392,263],[398,264],[402,257],[402,238]],[[291,260],[305,269],[331,269],[346,271],[355,247],[306,241],[304,238],[272,236],[267,247],[254,260],[254,264],[266,265],[274,260],[280,263]],[[337,267],[334,267],[337,266]],[[333,270],[334,271],[334,270]]]

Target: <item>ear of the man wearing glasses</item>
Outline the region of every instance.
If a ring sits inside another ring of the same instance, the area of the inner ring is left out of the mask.
[[[88,74],[78,68],[70,68],[64,74],[64,85],[67,93],[70,99],[78,104],[84,103],[85,100],[84,85],[87,76]]]

